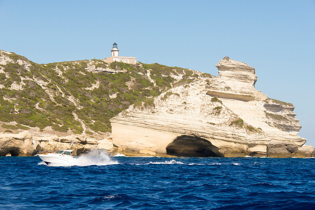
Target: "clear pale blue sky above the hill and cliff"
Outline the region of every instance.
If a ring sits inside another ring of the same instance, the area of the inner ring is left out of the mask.
[[[315,1],[2,1],[0,49],[37,63],[122,56],[218,75],[224,56],[295,105],[314,138]]]

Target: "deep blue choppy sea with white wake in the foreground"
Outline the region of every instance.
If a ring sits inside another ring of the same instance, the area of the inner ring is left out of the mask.
[[[315,209],[314,163],[102,155],[47,166],[0,157],[0,209]]]

